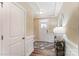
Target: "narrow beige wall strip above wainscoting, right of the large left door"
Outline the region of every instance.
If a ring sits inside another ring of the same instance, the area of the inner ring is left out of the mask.
[[[33,34],[33,15],[31,9],[27,12],[27,20],[26,20],[26,34]]]

